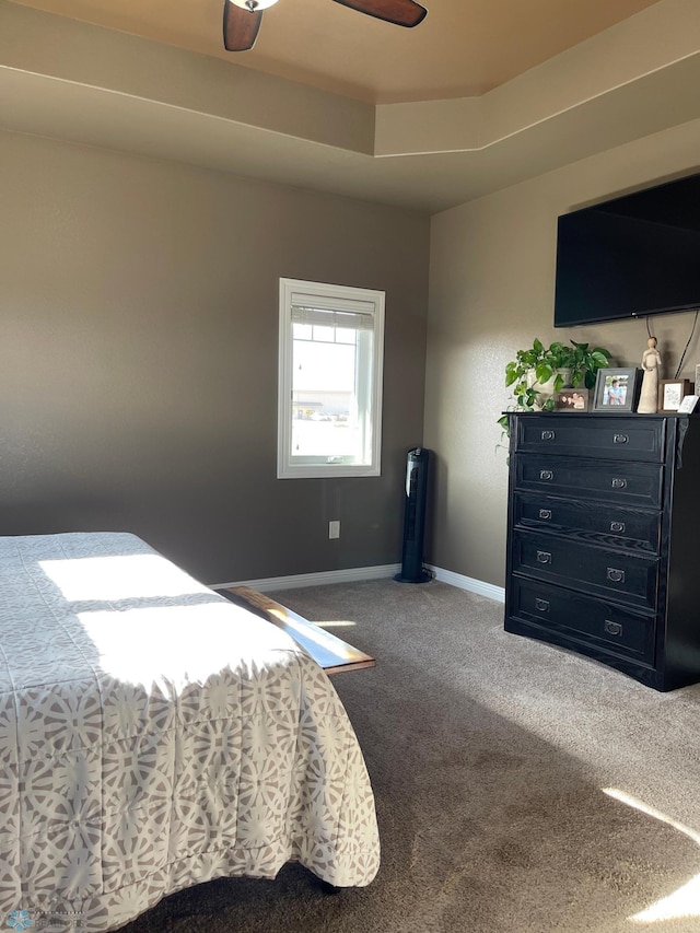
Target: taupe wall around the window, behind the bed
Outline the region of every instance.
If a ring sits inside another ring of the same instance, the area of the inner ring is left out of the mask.
[[[2,534],[128,529],[209,583],[400,559],[428,218],[12,133],[0,203]],[[281,276],[386,290],[381,478],[276,479]]]

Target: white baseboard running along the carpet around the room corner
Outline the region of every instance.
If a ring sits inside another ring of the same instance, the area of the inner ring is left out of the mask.
[[[442,570],[439,567],[427,564],[435,580],[448,583],[459,590],[468,590],[479,596],[495,599],[498,603],[505,602],[505,591],[502,586],[485,583],[452,570]],[[327,583],[358,583],[363,580],[386,580],[400,573],[400,563],[386,563],[376,567],[353,567],[347,570],[327,570],[320,573],[298,573],[292,576],[266,576],[259,580],[236,580],[232,583],[210,583],[212,590],[225,590],[229,586],[250,586],[259,593],[269,593],[273,590],[298,590],[301,586],[324,586]]]

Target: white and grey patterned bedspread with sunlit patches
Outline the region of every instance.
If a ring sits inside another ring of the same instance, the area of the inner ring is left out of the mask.
[[[288,861],[378,868],[325,673],[133,535],[0,537],[0,928],[102,933]]]

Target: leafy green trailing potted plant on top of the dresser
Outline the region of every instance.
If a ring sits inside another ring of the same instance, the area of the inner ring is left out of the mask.
[[[545,347],[536,337],[532,347],[516,352],[505,366],[514,411],[553,411],[555,394],[564,386],[595,386],[597,371],[610,365],[610,351],[575,340],[570,343],[556,340]],[[508,431],[506,415],[499,418],[499,424]]]

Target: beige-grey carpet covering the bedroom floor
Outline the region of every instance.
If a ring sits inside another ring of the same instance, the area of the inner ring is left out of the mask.
[[[378,660],[334,684],[380,874],[332,896],[299,866],[221,879],[125,931],[699,933],[700,686],[657,693],[506,634],[502,605],[443,583],[272,595]]]

